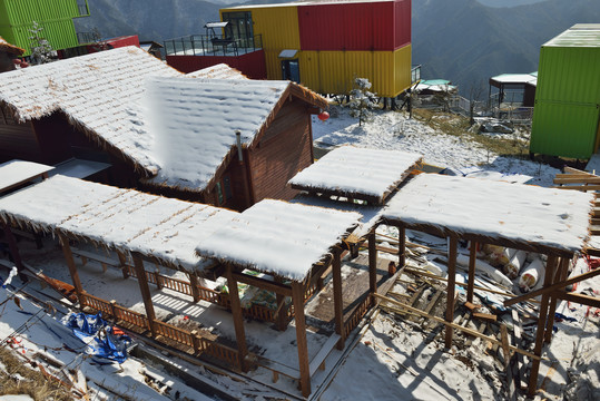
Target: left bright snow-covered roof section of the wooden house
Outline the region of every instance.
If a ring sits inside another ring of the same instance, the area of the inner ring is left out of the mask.
[[[0,104],[20,121],[63,111],[87,135],[148,173],[150,154],[138,102],[146,77],[181,72],[131,46],[73,57],[0,75]]]

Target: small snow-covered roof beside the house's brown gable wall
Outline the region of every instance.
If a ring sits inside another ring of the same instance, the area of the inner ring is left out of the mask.
[[[381,204],[422,159],[419,154],[342,146],[296,174],[289,185]]]

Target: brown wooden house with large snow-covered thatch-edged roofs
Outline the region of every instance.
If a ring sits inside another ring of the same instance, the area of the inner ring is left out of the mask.
[[[201,78],[215,75],[229,79]],[[313,162],[311,114],[325,107],[296,84],[226,66],[186,77],[126,47],[0,76],[0,160],[83,164],[75,176],[243,209],[295,195],[286,183]]]

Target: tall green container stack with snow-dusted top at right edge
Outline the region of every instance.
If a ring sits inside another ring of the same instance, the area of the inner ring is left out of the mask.
[[[576,25],[540,50],[530,151],[589,158],[599,124],[600,25]]]

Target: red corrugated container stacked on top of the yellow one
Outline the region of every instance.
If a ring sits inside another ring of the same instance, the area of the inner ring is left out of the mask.
[[[411,41],[411,0],[298,6],[302,50],[393,51]]]

